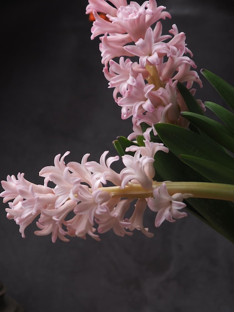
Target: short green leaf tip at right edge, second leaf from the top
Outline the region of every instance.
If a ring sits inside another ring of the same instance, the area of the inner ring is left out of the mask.
[[[213,111],[234,134],[234,114],[213,102],[205,102],[205,105]]]

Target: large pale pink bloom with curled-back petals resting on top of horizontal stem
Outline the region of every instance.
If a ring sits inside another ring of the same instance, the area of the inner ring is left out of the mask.
[[[134,156],[122,156],[125,168],[120,171],[121,188],[124,188],[128,182],[132,182],[139,183],[144,189],[151,189],[152,179],[147,175],[147,163],[153,161],[153,157],[141,156],[140,151],[136,151]]]

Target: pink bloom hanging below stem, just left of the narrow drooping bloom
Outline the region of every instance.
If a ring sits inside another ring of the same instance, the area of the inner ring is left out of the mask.
[[[117,203],[117,206],[110,212],[109,209],[105,209],[101,214],[97,214],[96,222],[98,223],[98,232],[105,233],[110,229],[113,229],[118,236],[132,235],[131,232],[127,232],[124,228],[127,228],[131,223],[124,219],[124,214],[129,208],[129,200],[123,199]]]

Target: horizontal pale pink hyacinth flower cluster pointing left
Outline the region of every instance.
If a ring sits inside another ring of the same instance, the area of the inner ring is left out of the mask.
[[[167,152],[161,144],[151,145],[152,155],[157,151]],[[23,173],[18,173],[17,178],[7,176],[6,181],[1,181],[4,191],[0,196],[4,197],[3,202],[9,202],[6,208],[7,217],[14,219],[19,225],[22,237],[25,237],[25,228],[39,216],[37,226],[40,230],[36,235],[52,234],[52,241],[57,237],[68,241],[65,237],[77,236],[86,238],[86,234],[96,240],[99,235],[94,232],[94,224],[98,225],[98,233],[105,233],[113,229],[117,235],[131,235],[130,231],[141,230],[146,236],[153,236],[143,226],[143,213],[146,206],[152,211],[159,211],[155,218],[155,225],[159,226],[165,219],[173,222],[173,218],[186,216],[186,212],[178,209],[184,208],[182,194],[168,194],[165,183],[153,187],[153,180],[150,176],[154,173],[152,162],[153,157],[141,156],[146,148],[142,148],[134,156],[125,155],[122,157],[126,165],[119,173],[111,168],[111,164],[118,160],[116,157],[108,157],[104,152],[100,162],[88,161],[89,154],[86,154],[81,163],[71,161],[65,164],[64,158],[69,154],[57,155],[54,158],[54,166],[42,168],[39,175],[44,177],[43,185],[36,185],[24,178]],[[146,151],[148,152],[148,151]],[[56,186],[51,188],[48,182],[52,181]],[[131,190],[131,185],[149,190],[152,197],[138,198],[135,209],[129,219],[124,218],[128,210],[132,196],[121,199],[121,196],[112,196],[112,187],[103,188],[107,182],[112,182],[123,190],[126,185]],[[74,216],[66,219],[69,212],[73,211]],[[64,230],[66,227],[66,230]],[[127,231],[130,230],[130,231]]]

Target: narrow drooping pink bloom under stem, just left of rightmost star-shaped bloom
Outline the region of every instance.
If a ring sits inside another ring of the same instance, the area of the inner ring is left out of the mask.
[[[143,225],[143,216],[144,211],[146,209],[147,202],[144,198],[140,198],[137,200],[135,204],[135,209],[132,214],[132,216],[129,219],[129,222],[131,225],[128,227],[130,231],[133,231],[134,229],[141,231],[145,236],[147,237],[153,237],[153,233],[150,233],[148,231],[148,228],[145,228]]]

